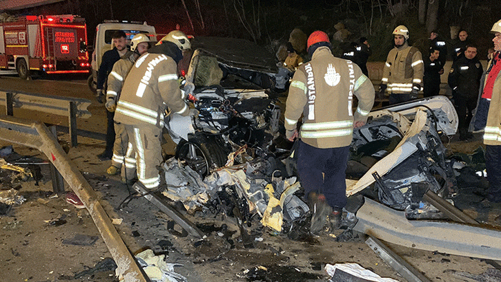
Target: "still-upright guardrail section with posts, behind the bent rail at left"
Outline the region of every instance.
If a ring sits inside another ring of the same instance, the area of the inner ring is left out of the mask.
[[[0,105],[6,107],[7,116],[14,116],[14,108],[41,111],[57,116],[68,116],[71,146],[77,147],[77,118],[90,118],[87,110],[90,100],[83,98],[29,94],[0,89]]]

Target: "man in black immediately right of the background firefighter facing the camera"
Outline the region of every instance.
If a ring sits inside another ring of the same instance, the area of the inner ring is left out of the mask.
[[[444,66],[438,60],[440,51],[431,48],[429,58],[424,58],[424,76],[423,76],[423,96],[437,96],[440,93],[440,75],[444,73]]]

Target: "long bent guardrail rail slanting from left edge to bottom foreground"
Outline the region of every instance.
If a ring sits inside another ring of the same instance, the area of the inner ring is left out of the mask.
[[[150,281],[137,265],[137,261],[113,226],[90,184],[68,158],[45,124],[3,117],[0,118],[0,139],[32,147],[44,153],[86,206],[92,221],[117,263],[117,274],[121,274],[126,282]]]

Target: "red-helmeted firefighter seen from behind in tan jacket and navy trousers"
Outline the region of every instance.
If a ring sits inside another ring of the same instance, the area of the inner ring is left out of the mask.
[[[328,222],[339,228],[346,205],[345,171],[353,127],[365,124],[374,103],[374,87],[355,63],[336,58],[325,32],[308,37],[311,61],[297,68],[286,101],[286,137],[299,138],[297,171],[314,211],[310,230]],[[358,107],[353,112],[353,96]],[[303,115],[300,133],[297,121]]]

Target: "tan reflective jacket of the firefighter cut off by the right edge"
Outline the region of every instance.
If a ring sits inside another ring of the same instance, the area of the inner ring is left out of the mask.
[[[500,53],[496,53],[497,63],[501,63]],[[494,59],[489,62],[487,69],[491,70],[491,64]],[[489,74],[486,74],[487,78]],[[494,87],[492,91],[491,104],[489,106],[489,113],[487,113],[487,124],[484,129],[484,144],[486,145],[501,145],[501,72],[495,77]]]

